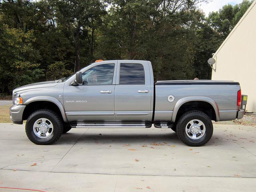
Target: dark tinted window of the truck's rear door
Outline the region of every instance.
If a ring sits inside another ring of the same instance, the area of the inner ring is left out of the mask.
[[[121,63],[119,84],[145,84],[143,65]]]

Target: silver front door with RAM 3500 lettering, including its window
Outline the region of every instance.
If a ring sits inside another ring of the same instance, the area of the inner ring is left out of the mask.
[[[82,71],[82,84],[64,87],[64,107],[70,122],[115,121],[115,67],[115,61],[94,63],[91,68]]]

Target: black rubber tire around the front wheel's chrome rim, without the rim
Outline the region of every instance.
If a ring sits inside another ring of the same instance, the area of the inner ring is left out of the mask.
[[[48,119],[53,126],[51,134],[47,138],[40,138],[36,136],[34,132],[34,129],[33,129],[34,123],[40,118]],[[32,141],[34,144],[50,145],[56,142],[60,138],[63,132],[63,122],[60,116],[58,116],[58,114],[56,114],[52,110],[48,110],[48,109],[37,110],[32,114],[30,114],[30,116],[28,117],[25,130],[26,130],[28,139]]]

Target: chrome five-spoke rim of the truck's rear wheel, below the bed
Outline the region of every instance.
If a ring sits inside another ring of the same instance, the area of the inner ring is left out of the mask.
[[[185,132],[191,139],[200,139],[205,134],[205,125],[198,119],[191,120],[188,122]]]

